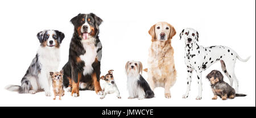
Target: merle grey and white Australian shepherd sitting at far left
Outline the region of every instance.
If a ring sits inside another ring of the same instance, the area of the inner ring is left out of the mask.
[[[51,96],[49,72],[59,68],[60,44],[65,35],[57,30],[44,30],[37,36],[41,45],[22,78],[21,86],[9,85],[6,87],[7,90],[30,94],[44,90],[46,96]]]

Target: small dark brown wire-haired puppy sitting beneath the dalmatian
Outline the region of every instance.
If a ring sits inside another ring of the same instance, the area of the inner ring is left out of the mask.
[[[217,96],[220,96],[222,100],[234,99],[236,96],[246,96],[245,94],[236,94],[236,91],[232,86],[228,83],[224,82],[223,75],[218,70],[212,70],[208,75],[207,78],[210,81],[210,86],[212,87],[213,91],[213,100],[217,99]]]

